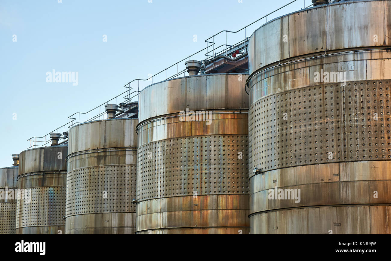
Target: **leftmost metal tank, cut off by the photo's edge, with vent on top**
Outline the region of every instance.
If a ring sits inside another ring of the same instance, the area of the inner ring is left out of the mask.
[[[0,168],[0,234],[15,234],[19,154],[12,159],[12,167]]]

